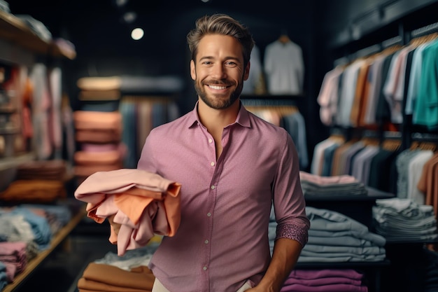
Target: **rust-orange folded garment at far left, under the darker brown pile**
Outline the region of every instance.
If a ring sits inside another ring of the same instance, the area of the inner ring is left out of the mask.
[[[8,202],[53,202],[66,197],[62,181],[26,179],[13,181],[0,193],[0,200]]]

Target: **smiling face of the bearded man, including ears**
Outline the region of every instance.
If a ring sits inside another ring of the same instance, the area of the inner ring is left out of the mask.
[[[190,75],[199,98],[212,109],[227,109],[239,98],[249,64],[243,68],[242,47],[232,36],[208,34],[199,42]]]

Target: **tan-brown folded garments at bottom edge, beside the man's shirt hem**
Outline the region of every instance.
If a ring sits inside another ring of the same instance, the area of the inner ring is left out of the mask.
[[[119,288],[123,287],[139,289],[141,291],[151,291],[155,281],[155,276],[152,271],[144,265],[134,267],[132,270],[127,271],[113,265],[92,262],[85,268],[82,279],[82,281],[78,281],[78,288],[94,290],[90,288],[90,286],[87,286],[87,284],[90,284],[90,281],[94,281],[93,284],[101,283]],[[115,291],[125,290],[119,289]]]

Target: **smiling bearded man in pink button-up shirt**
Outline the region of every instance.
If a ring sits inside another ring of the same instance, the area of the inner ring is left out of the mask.
[[[204,16],[187,39],[198,102],[150,132],[138,164],[182,185],[181,225],[150,261],[153,291],[278,292],[309,229],[295,145],[239,100],[254,45],[246,27]]]

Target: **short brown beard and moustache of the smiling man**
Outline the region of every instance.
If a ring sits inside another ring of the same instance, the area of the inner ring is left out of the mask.
[[[212,83],[212,82],[208,82],[208,83],[215,85],[225,85],[224,83]],[[239,85],[237,85],[236,89],[233,92],[231,92],[229,96],[227,94],[222,94],[222,95],[215,94],[215,96],[209,97],[204,88],[204,82],[195,80],[195,90],[197,92],[197,95],[207,106],[211,107],[211,109],[229,108],[229,106],[234,104],[234,102],[236,102],[236,100],[239,99],[242,89],[243,89],[243,77],[241,78],[241,82],[239,83]]]

